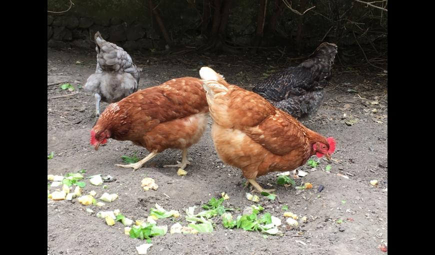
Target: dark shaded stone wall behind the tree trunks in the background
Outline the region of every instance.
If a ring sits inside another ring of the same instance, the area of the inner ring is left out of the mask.
[[[73,2],[72,7],[66,12],[48,13],[48,47],[93,48],[95,45],[93,35],[96,31],[100,31],[104,39],[127,50],[164,49],[165,41],[155,20],[151,18],[147,0],[73,0]],[[200,25],[202,0],[153,0],[153,2],[158,5],[158,11],[174,45],[198,46],[204,43]],[[301,16],[284,7],[275,31],[268,31],[267,22],[273,15],[274,1],[267,2],[265,36],[262,45],[293,47]],[[349,20],[358,20],[361,23],[356,26],[347,21],[335,22],[335,16],[338,14],[335,11],[329,13],[329,1],[319,1],[315,10],[319,13],[327,13],[328,16],[314,12],[303,16],[302,41],[307,48],[312,49],[324,40],[340,46],[355,44],[352,31],[356,29],[359,34],[366,30],[362,23],[380,29],[377,19],[364,18],[367,8],[363,5],[355,4],[352,11],[347,12],[349,5],[353,6],[348,0],[337,0],[334,4],[339,13],[349,13]],[[69,0],[48,0],[47,5],[48,10],[62,11],[68,8]],[[256,0],[231,1],[225,40],[234,45],[250,45],[255,35],[257,12]],[[339,18],[339,20],[345,19]],[[386,28],[386,23],[382,26]],[[382,39],[379,33],[363,33],[365,35],[358,38],[360,44]],[[386,33],[384,37],[386,39]]]

